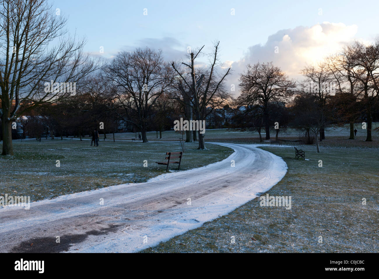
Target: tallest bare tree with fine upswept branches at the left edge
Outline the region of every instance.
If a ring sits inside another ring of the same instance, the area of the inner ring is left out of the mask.
[[[11,124],[17,117],[66,98],[76,87],[67,88],[67,83],[97,68],[81,52],[84,39],[65,37],[65,25],[45,0],[3,0],[0,5],[3,155],[13,154]],[[47,89],[51,81],[53,88]]]

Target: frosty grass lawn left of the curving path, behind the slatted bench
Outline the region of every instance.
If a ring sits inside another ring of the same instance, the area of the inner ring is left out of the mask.
[[[166,171],[166,151],[181,151],[180,143],[113,142],[101,140],[14,140],[14,156],[0,156],[0,195],[30,195],[31,201],[51,199],[122,183],[145,182]],[[2,144],[0,143],[0,148]],[[227,158],[233,150],[186,143],[180,170],[202,167]],[[199,156],[199,153],[204,156]],[[60,160],[60,167],[56,167]],[[147,167],[143,161],[147,160]],[[177,169],[172,164],[170,169]]]

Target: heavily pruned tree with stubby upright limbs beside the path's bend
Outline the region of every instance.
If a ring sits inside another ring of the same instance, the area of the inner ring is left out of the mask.
[[[196,54],[191,52],[189,63],[182,62],[182,65],[184,65],[186,69],[189,69],[190,71],[191,81],[183,76],[179,66],[175,65],[174,62],[171,64],[172,68],[174,68],[175,72],[183,80],[186,88],[189,89],[188,91],[191,92],[191,102],[196,113],[196,120],[199,122],[204,121],[207,115],[212,112],[213,108],[217,106],[223,106],[225,101],[230,96],[223,86],[225,77],[230,73],[230,67],[223,74],[217,73],[217,68],[220,64],[217,56],[219,43],[220,42],[216,42],[214,44],[214,51],[210,55],[211,60],[209,70],[205,74],[201,74],[198,79],[196,76],[195,59],[201,53],[201,50],[204,48],[204,46],[202,46]],[[202,86],[203,82],[204,85]],[[208,107],[211,109],[207,109]],[[198,131],[198,149],[205,149],[204,134],[200,132],[201,131]]]

